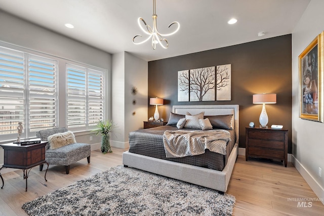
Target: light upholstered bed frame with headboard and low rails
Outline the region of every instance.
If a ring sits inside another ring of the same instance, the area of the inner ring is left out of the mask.
[[[186,112],[196,114],[202,111],[204,111],[207,116],[233,114],[232,127],[236,134],[236,142],[227,157],[226,165],[221,171],[131,153],[129,151],[123,153],[123,164],[125,167],[131,166],[153,172],[154,174],[226,192],[238,153],[238,110],[238,105],[176,105],[173,106],[172,109],[172,112],[177,114],[186,114]]]

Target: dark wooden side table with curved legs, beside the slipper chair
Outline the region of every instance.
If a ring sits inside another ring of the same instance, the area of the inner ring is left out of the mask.
[[[2,144],[1,147],[4,149],[5,160],[4,165],[0,168],[15,168],[22,169],[24,172],[24,179],[26,179],[26,191],[27,191],[27,179],[29,175],[29,171],[32,167],[41,165],[46,163],[47,169],[45,172],[45,181],[47,170],[49,169],[49,163],[45,160],[45,146],[47,142],[41,142],[38,144],[30,144],[30,145],[20,145],[14,143]],[[28,171],[29,169],[29,171]],[[3,189],[5,183],[4,179],[1,176],[2,187]]]

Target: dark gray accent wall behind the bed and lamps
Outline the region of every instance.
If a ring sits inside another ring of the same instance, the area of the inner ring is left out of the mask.
[[[231,64],[231,101],[178,102],[178,71],[224,64]],[[151,97],[165,100],[158,107],[160,118],[168,120],[173,105],[238,104],[239,147],[242,148],[245,148],[245,127],[250,121],[259,126],[262,105],[253,104],[252,95],[262,93],[277,94],[277,103],[266,105],[268,125],[281,124],[289,129],[288,152],[291,153],[291,34],[148,62],[148,100]],[[154,106],[148,105],[148,116],[153,114]]]

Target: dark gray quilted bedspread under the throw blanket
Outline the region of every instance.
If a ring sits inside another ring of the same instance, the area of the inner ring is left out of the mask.
[[[182,130],[183,129],[185,128],[182,128]],[[178,130],[178,128],[166,125],[148,129],[139,129],[138,131],[131,132],[129,134],[129,152],[195,166],[208,167],[210,169],[221,171],[225,167],[227,158],[236,142],[235,131],[228,130],[231,134],[231,141],[228,142],[226,146],[226,155],[211,152],[206,149],[205,154],[181,158],[167,158],[163,145],[163,134],[166,130],[175,131]]]

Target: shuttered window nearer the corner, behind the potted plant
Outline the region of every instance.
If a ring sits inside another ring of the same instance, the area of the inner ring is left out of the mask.
[[[67,126],[72,131],[95,128],[104,119],[104,72],[66,65]]]

